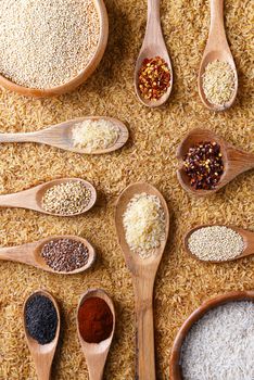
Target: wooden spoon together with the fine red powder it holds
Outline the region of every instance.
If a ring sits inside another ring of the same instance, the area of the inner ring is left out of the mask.
[[[114,304],[104,290],[90,289],[81,295],[76,324],[89,379],[102,380],[115,331]]]

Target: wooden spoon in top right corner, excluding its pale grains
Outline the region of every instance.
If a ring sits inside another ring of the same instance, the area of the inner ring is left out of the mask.
[[[213,61],[227,62],[234,73],[234,92],[231,99],[224,105],[212,104],[207,101],[203,91],[203,74],[205,67]],[[236,100],[238,92],[238,73],[236,64],[228,46],[225,26],[224,26],[224,0],[211,0],[211,26],[206,48],[201,61],[199,77],[198,77],[199,94],[204,105],[211,111],[225,111],[229,109]]]

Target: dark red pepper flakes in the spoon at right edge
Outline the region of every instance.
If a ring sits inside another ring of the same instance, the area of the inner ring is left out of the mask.
[[[224,174],[224,162],[217,142],[200,142],[185,156],[185,169],[195,190],[212,190]]]

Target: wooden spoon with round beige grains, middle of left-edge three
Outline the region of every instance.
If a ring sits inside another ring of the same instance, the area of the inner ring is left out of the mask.
[[[56,216],[75,216],[97,200],[93,186],[80,178],[55,179],[13,194],[0,195],[0,207],[21,207]]]

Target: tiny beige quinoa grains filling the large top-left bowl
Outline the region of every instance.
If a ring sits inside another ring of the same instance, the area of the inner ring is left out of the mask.
[[[63,85],[90,62],[99,35],[92,0],[1,0],[0,73],[29,88]]]

